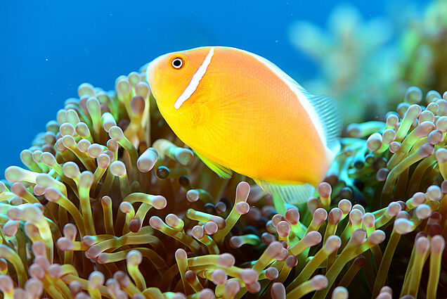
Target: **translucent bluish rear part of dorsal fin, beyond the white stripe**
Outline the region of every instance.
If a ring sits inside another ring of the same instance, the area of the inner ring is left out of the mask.
[[[305,91],[305,90],[304,90]],[[342,113],[335,98],[322,94],[305,94],[320,120],[326,138],[326,145],[333,153],[340,149],[339,136],[342,133]]]

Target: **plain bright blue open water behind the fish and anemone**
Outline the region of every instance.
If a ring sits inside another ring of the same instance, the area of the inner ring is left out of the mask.
[[[363,18],[385,1],[347,1]],[[325,27],[337,1],[6,1],[0,3],[0,177],[82,82],[109,90],[169,51],[235,46],[299,79],[316,65],[287,39],[296,20]]]

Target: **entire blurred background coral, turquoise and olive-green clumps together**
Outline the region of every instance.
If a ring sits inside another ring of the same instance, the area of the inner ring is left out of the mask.
[[[339,4],[327,30],[304,20],[290,27],[292,45],[320,67],[315,78],[303,80],[304,87],[337,98],[345,125],[381,117],[411,85],[447,88],[446,1],[414,5],[364,20],[354,6]]]

